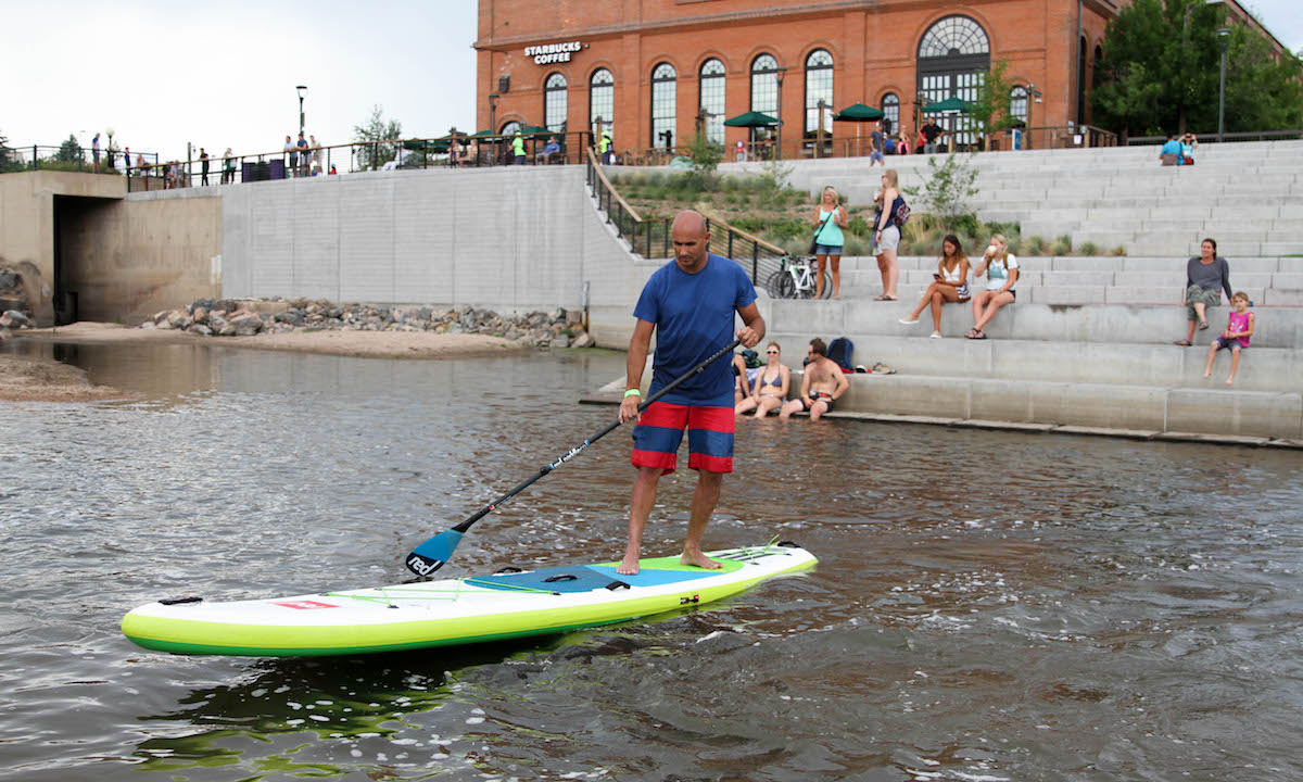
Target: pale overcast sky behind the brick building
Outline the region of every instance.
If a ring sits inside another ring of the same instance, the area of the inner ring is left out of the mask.
[[[1303,1],[1244,5],[1303,50]],[[162,159],[184,159],[188,142],[270,152],[298,133],[297,85],[323,146],[352,141],[375,106],[407,137],[474,132],[476,17],[474,0],[0,0],[0,136],[89,147],[112,128],[119,146]]]

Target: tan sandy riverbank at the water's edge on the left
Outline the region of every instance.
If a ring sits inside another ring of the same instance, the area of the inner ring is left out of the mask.
[[[212,338],[182,331],[128,328],[117,323],[73,323],[59,328],[14,332],[13,339],[81,344],[163,343],[220,348],[296,351],[361,358],[473,358],[526,352],[516,343],[481,334],[427,331],[292,331],[257,336]],[[96,386],[86,373],[56,361],[0,356],[0,400],[87,401],[122,399],[132,394]]]

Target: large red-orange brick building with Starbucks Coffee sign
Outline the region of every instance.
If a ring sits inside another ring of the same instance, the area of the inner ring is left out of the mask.
[[[920,100],[971,99],[1002,59],[1015,112],[1062,128],[1089,120],[1117,10],[1117,0],[480,0],[476,117],[508,132],[601,128],[627,150],[687,142],[698,123],[732,147],[765,132],[724,119],[780,111],[792,155],[821,125],[834,139],[863,133],[831,121],[853,103],[912,132]]]

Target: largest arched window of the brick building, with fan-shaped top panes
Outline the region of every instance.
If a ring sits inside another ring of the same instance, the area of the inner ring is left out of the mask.
[[[919,94],[924,106],[960,98],[977,98],[981,85],[990,69],[990,39],[976,21],[960,16],[947,16],[928,27],[919,40]],[[967,115],[930,115],[938,125],[949,130],[964,130],[969,126]],[[971,133],[955,136],[959,143],[973,143]]]

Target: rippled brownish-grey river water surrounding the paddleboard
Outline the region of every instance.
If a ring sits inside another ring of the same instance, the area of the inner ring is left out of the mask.
[[[405,579],[609,421],[576,399],[623,356],[8,349],[142,396],[0,403],[0,781],[1303,778],[1298,452],[745,420],[706,543],[794,540],[808,575],[559,637],[173,657],[121,615]],[[615,558],[628,451],[443,573]],[[681,473],[648,555],[681,540]]]

